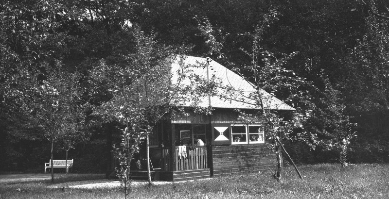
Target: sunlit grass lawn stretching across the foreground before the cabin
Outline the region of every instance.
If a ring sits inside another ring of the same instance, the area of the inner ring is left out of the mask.
[[[362,164],[341,168],[339,165],[299,166],[305,176],[300,180],[293,167],[284,167],[282,180],[277,182],[272,173],[246,173],[223,178],[212,178],[192,182],[168,183],[161,185],[137,186],[132,188],[128,198],[374,198],[389,199],[389,165]],[[85,178],[88,179],[85,179]],[[70,174],[56,175],[56,182],[71,182],[102,178],[102,175]],[[96,189],[53,189],[50,180],[35,182],[12,182],[0,184],[0,199],[83,199],[83,198],[124,198],[120,188]],[[21,191],[19,191],[19,190]]]

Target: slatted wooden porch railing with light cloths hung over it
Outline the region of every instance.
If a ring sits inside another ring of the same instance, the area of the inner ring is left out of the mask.
[[[186,158],[182,155],[178,155],[178,147],[176,147],[175,152],[175,160],[174,163],[172,163],[169,158],[169,150],[163,149],[165,171],[172,171],[173,164],[176,165],[177,171],[208,168],[208,153],[206,146],[195,147],[194,149],[189,149],[189,147],[187,147]]]

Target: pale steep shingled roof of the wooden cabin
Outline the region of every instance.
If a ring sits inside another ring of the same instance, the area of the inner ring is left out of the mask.
[[[213,108],[229,109],[261,108],[252,96],[257,92],[255,85],[246,81],[243,77],[234,73],[225,66],[220,65],[210,58],[193,56],[177,56],[176,59],[172,60],[172,62],[169,62],[171,65],[172,83],[177,83],[179,79],[177,71],[182,70],[182,66],[184,66],[186,76],[197,75],[206,80],[214,80],[218,83],[218,85],[221,85],[218,87],[218,94],[200,99],[200,103],[198,104],[200,107],[212,106]],[[180,83],[183,85],[189,85],[190,80],[185,78],[180,80]],[[262,96],[265,109],[296,110],[264,90],[260,90],[260,95]],[[189,102],[183,102],[180,105],[186,107],[191,106]]]

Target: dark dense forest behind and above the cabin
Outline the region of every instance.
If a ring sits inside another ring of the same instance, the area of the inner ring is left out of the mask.
[[[224,66],[239,68],[250,63],[250,57],[241,50],[252,48],[248,35],[265,21],[269,23],[260,47],[278,59],[293,53],[284,67],[307,82],[300,87],[306,93],[303,98],[286,99],[289,94],[276,93],[296,109],[304,113],[309,110],[304,129],[321,138],[331,137],[347,120],[355,124],[349,131],[357,134],[351,140],[348,160],[388,162],[389,5],[385,3],[0,0],[0,170],[43,172],[51,141],[49,134],[42,133],[34,114],[42,101],[55,105],[56,92],[47,91],[51,87],[45,82],[58,80],[64,88],[67,81],[77,84],[77,92],[69,91],[77,94],[77,100],[69,104],[76,104],[78,111],[69,111],[68,115],[88,116],[110,98],[108,81],[90,81],[91,71],[128,63],[127,55],[136,49],[137,39],[129,29],[150,35],[158,45],[177,53],[208,56]],[[214,31],[211,39],[198,28],[207,20]],[[218,53],[211,53],[209,41],[220,42],[216,43],[222,47]],[[250,73],[244,75],[250,78]],[[32,98],[31,89],[36,85],[45,87]],[[46,91],[47,95],[42,94]],[[71,127],[85,136],[71,145],[58,143],[54,159],[64,159],[65,150],[70,149],[69,158],[77,158],[74,172],[104,172],[105,139],[112,128],[87,117],[76,122],[87,124]],[[338,158],[331,149],[311,150],[299,142],[286,146],[299,163],[335,162]]]

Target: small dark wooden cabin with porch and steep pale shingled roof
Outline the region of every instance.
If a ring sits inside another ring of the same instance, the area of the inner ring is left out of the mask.
[[[210,58],[184,56],[178,59],[188,66],[204,65],[190,71],[205,78],[217,78],[219,83],[234,90],[237,97],[208,96],[199,106],[212,107],[212,115],[175,114],[161,122],[149,137],[154,178],[182,181],[273,169],[276,157],[266,147],[262,124],[240,122],[235,111],[253,113],[262,108],[250,99],[249,95],[256,91],[253,84]],[[171,63],[172,73],[179,69],[178,61]],[[220,92],[224,92],[223,89]],[[261,95],[265,109],[295,110],[265,91],[261,91]],[[191,108],[190,103],[184,102],[183,106]],[[196,138],[204,145],[198,146]]]

